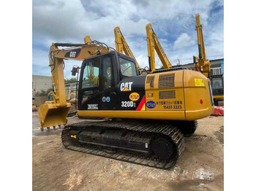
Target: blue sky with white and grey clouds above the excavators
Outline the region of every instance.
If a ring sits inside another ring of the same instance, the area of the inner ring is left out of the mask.
[[[50,76],[48,51],[53,42],[83,43],[85,36],[116,47],[119,26],[140,64],[148,66],[146,24],[151,23],[165,53],[175,66],[192,63],[198,55],[195,14],[200,14],[206,58],[224,58],[224,1],[214,0],[33,0],[32,74]],[[156,56],[157,68],[162,66]],[[64,77],[73,65],[65,61]]]

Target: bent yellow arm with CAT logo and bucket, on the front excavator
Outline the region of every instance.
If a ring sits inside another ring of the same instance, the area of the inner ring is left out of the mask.
[[[85,44],[53,43],[50,47],[49,66],[55,92],[51,92],[53,101],[46,101],[45,104],[39,106],[41,130],[67,123],[67,114],[71,104],[67,103],[65,96],[64,59],[83,61],[86,58],[111,51],[106,44],[91,41],[90,36],[86,36],[84,42]],[[60,50],[59,47],[65,47],[65,49]]]

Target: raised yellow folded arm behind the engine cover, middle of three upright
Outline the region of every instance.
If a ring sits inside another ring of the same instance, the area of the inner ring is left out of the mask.
[[[155,50],[164,68],[170,69],[172,65],[168,60],[165,54],[165,51],[163,50],[159,40],[157,39],[157,34],[154,33],[154,30],[150,23],[146,25],[146,34],[147,34],[147,44],[148,44],[148,62],[149,62],[150,71],[153,72],[156,70],[155,52],[154,52]]]

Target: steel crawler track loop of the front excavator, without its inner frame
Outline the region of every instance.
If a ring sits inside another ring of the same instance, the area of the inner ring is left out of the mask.
[[[165,135],[171,139],[176,147],[175,155],[169,161],[158,160],[154,155],[146,155],[141,152],[130,151],[127,149],[113,149],[94,144],[79,145],[73,144],[69,137],[69,130],[83,130],[85,128],[122,128],[144,133],[158,133]],[[127,122],[127,121],[101,121],[101,122],[78,122],[72,125],[67,125],[61,134],[62,143],[67,149],[78,152],[85,152],[92,155],[122,160],[129,163],[140,165],[148,165],[154,168],[173,168],[176,165],[178,158],[184,151],[184,136],[178,128],[166,123],[149,123],[149,122]]]

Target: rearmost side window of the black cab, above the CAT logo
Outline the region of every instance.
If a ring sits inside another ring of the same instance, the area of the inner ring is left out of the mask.
[[[138,75],[135,63],[119,58],[121,74],[124,77],[135,77]]]

